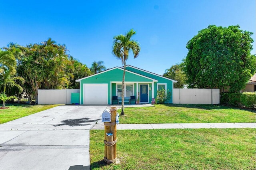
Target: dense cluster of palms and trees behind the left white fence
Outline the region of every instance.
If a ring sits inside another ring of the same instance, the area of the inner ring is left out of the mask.
[[[37,103],[38,89],[77,89],[79,83],[75,80],[92,74],[85,64],[67,54],[65,44],[51,38],[25,47],[10,43],[2,49],[0,91],[6,89],[6,96],[20,96],[23,87],[29,101],[35,99]]]

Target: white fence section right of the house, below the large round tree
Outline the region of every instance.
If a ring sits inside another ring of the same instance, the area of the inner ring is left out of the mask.
[[[174,104],[220,104],[220,89],[173,89]]]

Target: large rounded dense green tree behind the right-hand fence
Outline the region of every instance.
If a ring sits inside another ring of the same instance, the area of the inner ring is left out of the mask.
[[[240,26],[210,25],[198,32],[186,48],[185,73],[190,88],[230,86],[231,92],[243,89],[256,70],[251,55],[252,32]]]

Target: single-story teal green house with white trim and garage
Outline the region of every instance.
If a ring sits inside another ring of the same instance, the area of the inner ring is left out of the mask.
[[[76,80],[80,83],[79,104],[112,104],[112,97],[121,97],[124,67],[114,67]],[[124,97],[136,96],[140,103],[151,103],[158,89],[170,93],[177,81],[161,75],[126,65]],[[173,95],[172,95],[173,96]],[[172,97],[169,101],[172,103]]]

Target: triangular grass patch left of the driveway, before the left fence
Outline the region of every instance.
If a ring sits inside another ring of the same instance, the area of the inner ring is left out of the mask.
[[[0,124],[19,119],[58,105],[6,104],[9,109],[0,109]]]

